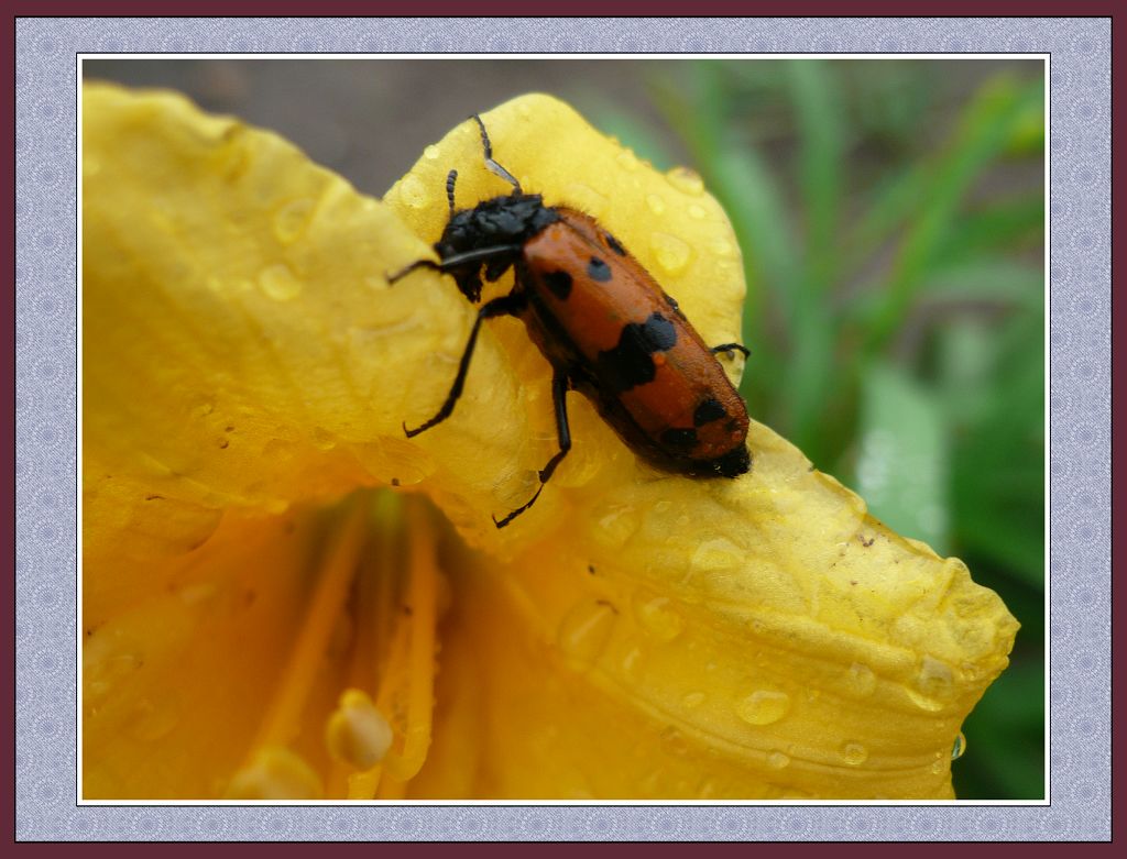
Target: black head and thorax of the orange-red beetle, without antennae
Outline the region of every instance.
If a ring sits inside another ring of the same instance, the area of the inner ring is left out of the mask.
[[[450,217],[434,249],[458,288],[471,302],[481,298],[481,270],[492,283],[520,259],[524,243],[559,221],[539,194],[511,194],[463,208]],[[467,257],[464,263],[458,262]]]

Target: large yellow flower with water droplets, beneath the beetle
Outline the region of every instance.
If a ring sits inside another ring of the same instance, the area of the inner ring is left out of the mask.
[[[738,339],[693,173],[545,96],[485,120]],[[554,450],[550,368],[499,320],[405,438],[474,308],[385,276],[432,254],[451,168],[460,206],[508,191],[472,123],[382,203],[174,95],[87,86],[82,134],[86,797],[952,796],[1017,623],[767,428],[749,474],[693,481],[573,396],[571,454],[498,530]]]

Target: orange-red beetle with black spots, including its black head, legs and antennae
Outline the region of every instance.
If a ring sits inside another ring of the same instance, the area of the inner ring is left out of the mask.
[[[453,276],[472,303],[481,278],[497,280],[509,268],[513,289],[481,305],[462,352],[454,384],[437,413],[403,431],[417,436],[451,415],[461,396],[481,323],[516,316],[552,366],[552,403],[559,450],[540,471],[535,494],[498,528],[540,498],[571,448],[567,392],[591,400],[619,437],[649,464],[693,477],[738,477],[751,469],[747,408],[716,358],[739,343],[708,347],[677,303],[595,218],[565,206],[545,206],[492,158],[485,123],[481,145],[488,170],[513,186],[507,196],[473,208],[454,206],[458,171],[446,177],[450,221],[434,249],[438,262],[418,260],[392,275],[394,283],[418,268]]]

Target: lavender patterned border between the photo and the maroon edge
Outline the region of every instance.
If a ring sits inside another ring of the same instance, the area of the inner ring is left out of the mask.
[[[76,53],[467,46],[1051,53],[1051,805],[77,806]],[[17,19],[17,839],[1109,839],[1110,51],[1099,18]]]

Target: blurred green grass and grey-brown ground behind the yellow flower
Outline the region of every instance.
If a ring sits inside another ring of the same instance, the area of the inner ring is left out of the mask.
[[[1045,796],[1039,60],[86,60],[289,137],[382,195],[473,111],[570,102],[703,176],[744,251],[749,411],[1021,621],[964,799]]]

